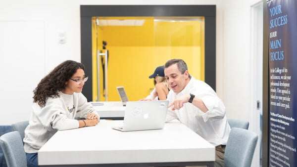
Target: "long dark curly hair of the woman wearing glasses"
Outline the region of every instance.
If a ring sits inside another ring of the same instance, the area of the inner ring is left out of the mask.
[[[85,66],[76,61],[66,60],[55,67],[33,90],[33,102],[44,107],[48,97],[59,97],[58,92],[65,88],[65,83],[77,69],[85,70]]]

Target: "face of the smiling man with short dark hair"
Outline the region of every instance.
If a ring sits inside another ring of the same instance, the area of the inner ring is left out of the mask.
[[[189,77],[189,72],[186,71],[182,74],[177,67],[177,64],[173,64],[164,69],[165,78],[170,88],[175,92],[179,93],[186,87],[186,80]]]

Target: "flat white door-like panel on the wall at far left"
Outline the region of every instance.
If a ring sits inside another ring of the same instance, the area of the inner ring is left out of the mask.
[[[0,20],[0,118],[8,124],[20,118],[28,120],[31,111],[25,109],[31,108],[32,90],[45,75],[44,24]]]

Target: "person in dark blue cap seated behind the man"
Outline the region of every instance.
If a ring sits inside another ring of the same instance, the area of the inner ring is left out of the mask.
[[[155,87],[153,88],[151,93],[145,99],[141,99],[141,101],[166,100],[167,94],[169,93],[170,89],[164,77],[164,66],[157,67],[154,73],[148,78],[154,79],[153,83]]]

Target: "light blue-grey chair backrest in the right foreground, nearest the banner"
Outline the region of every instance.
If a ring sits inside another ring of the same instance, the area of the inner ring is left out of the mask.
[[[258,135],[250,130],[233,127],[227,141],[225,167],[250,167]]]

